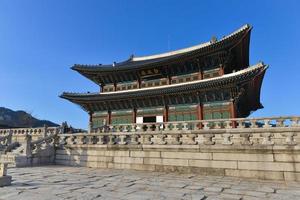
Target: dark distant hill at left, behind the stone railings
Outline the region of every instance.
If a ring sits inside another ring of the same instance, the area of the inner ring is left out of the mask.
[[[30,128],[41,127],[44,126],[44,124],[47,126],[59,126],[48,120],[39,120],[22,110],[13,111],[8,108],[0,107],[0,128]]]

